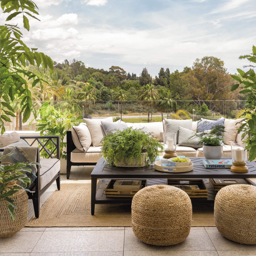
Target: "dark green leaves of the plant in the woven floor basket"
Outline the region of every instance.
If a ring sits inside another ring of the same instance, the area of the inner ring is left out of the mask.
[[[30,184],[31,182],[30,178],[24,172],[31,173],[31,169],[28,168],[27,166],[31,166],[38,163],[22,162],[16,164],[3,164],[4,158],[12,154],[13,153],[10,153],[0,158],[0,205],[6,206],[9,213],[11,214],[11,217],[13,218],[13,220],[15,220],[15,208],[17,208],[17,206],[15,205],[14,200],[12,199],[12,195],[21,189],[31,192],[29,189],[24,188],[27,186],[27,184]],[[22,182],[24,184],[24,187],[21,187],[19,185],[10,186],[14,184],[14,182],[16,181]],[[3,204],[3,202],[6,203]]]

